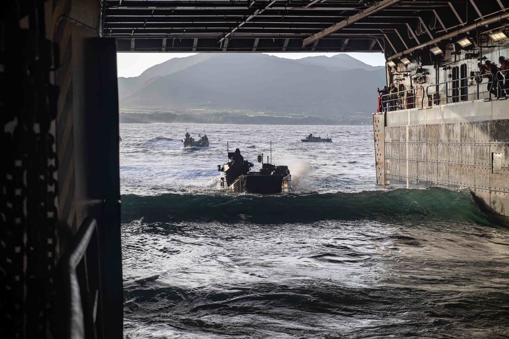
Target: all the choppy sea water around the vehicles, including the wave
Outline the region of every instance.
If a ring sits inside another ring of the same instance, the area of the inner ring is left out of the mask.
[[[509,229],[466,190],[376,187],[372,127],[120,135],[126,338],[509,337]],[[270,141],[293,192],[221,192],[227,142],[256,169]]]

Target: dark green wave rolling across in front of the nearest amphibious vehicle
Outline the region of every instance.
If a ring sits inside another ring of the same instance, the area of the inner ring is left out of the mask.
[[[250,222],[309,223],[321,220],[473,221],[488,223],[487,215],[467,190],[397,189],[360,193],[233,195],[164,194],[122,197],[124,222]]]

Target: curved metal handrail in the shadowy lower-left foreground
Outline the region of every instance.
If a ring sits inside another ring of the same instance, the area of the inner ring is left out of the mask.
[[[101,279],[97,222],[86,218],[62,258],[67,337],[102,339]]]

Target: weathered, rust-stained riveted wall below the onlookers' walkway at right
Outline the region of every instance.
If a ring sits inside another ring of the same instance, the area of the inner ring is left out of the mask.
[[[375,114],[374,116],[376,116]],[[468,188],[509,217],[509,100],[387,112],[385,186]],[[374,119],[376,128],[380,123]]]

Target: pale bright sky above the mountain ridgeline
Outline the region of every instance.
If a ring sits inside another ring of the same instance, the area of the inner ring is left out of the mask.
[[[174,57],[185,57],[197,53],[117,53],[117,70],[119,77],[136,77],[143,71]],[[332,56],[341,53],[265,53],[288,59],[300,59],[306,56]],[[345,53],[372,66],[383,66],[383,53]]]

